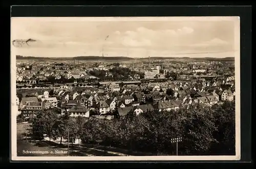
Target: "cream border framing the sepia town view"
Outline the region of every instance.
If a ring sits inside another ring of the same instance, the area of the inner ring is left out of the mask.
[[[36,21],[233,21],[235,46],[235,79],[236,79],[236,155],[235,156],[84,156],[84,157],[18,157],[16,142],[16,53],[11,44],[11,160],[14,161],[173,161],[173,160],[240,160],[240,17],[12,17],[11,23],[20,19]],[[18,28],[15,28],[18,29]],[[11,34],[15,31],[11,27]]]

